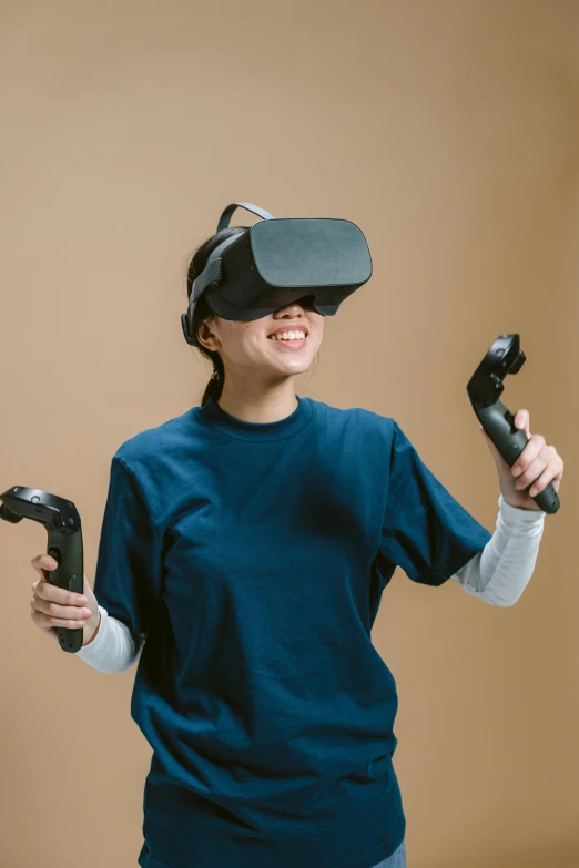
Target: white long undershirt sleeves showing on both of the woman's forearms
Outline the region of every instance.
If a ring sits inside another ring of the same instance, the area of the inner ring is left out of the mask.
[[[507,606],[517,602],[532,575],[547,513],[511,507],[502,494],[498,506],[492,538],[451,578],[471,596]],[[99,672],[125,672],[138,661],[145,636],[141,634],[135,643],[125,624],[100,604],[99,610],[96,635],[77,656]]]

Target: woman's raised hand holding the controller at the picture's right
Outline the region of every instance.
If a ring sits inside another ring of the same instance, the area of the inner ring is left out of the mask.
[[[553,446],[547,446],[542,435],[531,435],[529,430],[529,413],[527,410],[517,410],[515,413],[515,425],[521,428],[528,438],[522,452],[519,455],[512,467],[509,467],[497,447],[480,426],[482,437],[488,443],[488,448],[495,459],[499,474],[499,484],[502,497],[511,507],[518,509],[540,510],[540,507],[532,499],[542,491],[549,482],[552,482],[553,489],[559,492],[561,478],[563,474],[563,460]],[[534,482],[529,491],[524,489]]]

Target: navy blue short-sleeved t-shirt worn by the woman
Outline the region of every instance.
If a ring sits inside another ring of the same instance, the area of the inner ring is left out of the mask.
[[[491,539],[397,422],[210,399],[111,464],[94,593],[146,634],[142,868],[372,868],[405,816],[370,627],[396,565],[440,585]]]

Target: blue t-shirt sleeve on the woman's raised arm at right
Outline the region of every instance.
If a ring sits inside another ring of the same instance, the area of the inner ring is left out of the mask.
[[[492,534],[439,482],[394,421],[378,556],[402,566],[414,582],[440,585],[490,539]]]

